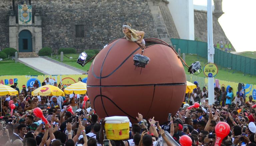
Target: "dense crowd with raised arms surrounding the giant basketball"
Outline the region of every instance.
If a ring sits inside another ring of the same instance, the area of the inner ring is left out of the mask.
[[[49,84],[47,82],[49,80],[43,84]],[[233,96],[231,87],[228,91],[225,87],[216,87],[215,102],[209,104],[207,88],[201,90],[196,81],[194,84],[197,87],[193,93],[186,94],[177,113],[166,115],[166,121],[143,118],[138,113],[138,122],[130,122],[129,138],[123,140],[107,140],[104,118],[90,108],[89,99],[83,103],[87,95],[32,96],[31,92],[38,87],[23,85],[18,97],[1,97],[0,145],[173,146],[179,143],[181,136],[188,135],[193,146],[211,146],[216,140],[215,126],[221,121],[230,126],[230,133],[221,145],[256,145],[256,111],[252,96],[246,101],[239,92]],[[196,102],[199,108],[188,108]],[[11,104],[15,105],[12,114]],[[72,107],[73,114],[67,111],[67,106]],[[33,114],[36,107],[42,109],[49,124]]]

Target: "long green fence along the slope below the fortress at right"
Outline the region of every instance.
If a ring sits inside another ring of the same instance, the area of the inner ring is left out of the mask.
[[[198,54],[198,56],[207,58],[206,42],[176,38],[171,38],[171,41],[173,45],[176,45],[176,51],[180,48],[181,53]],[[215,48],[214,63],[245,74],[256,75],[256,59],[228,53],[218,48]]]

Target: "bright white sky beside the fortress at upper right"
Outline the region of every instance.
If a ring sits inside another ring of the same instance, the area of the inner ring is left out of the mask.
[[[193,0],[207,5],[207,0]],[[213,0],[212,0],[213,5]],[[219,23],[237,52],[256,51],[256,0],[223,0]]]

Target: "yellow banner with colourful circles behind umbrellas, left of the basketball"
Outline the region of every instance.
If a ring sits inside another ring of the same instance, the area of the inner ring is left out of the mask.
[[[78,78],[82,79],[82,82],[86,83],[88,75],[38,75],[38,76],[0,76],[0,84],[11,86],[14,83],[17,83],[18,88],[22,89],[22,85],[25,85],[26,88],[28,86],[33,86],[35,80],[38,81],[39,87],[42,85],[42,82],[46,81],[46,78],[49,78],[49,82],[53,83],[57,82],[57,85],[69,86],[78,82]]]

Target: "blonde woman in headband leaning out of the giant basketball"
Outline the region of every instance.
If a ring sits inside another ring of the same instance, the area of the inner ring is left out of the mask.
[[[122,30],[123,30],[125,39],[128,39],[128,40],[136,42],[136,43],[140,43],[142,45],[143,49],[145,48],[145,40],[143,39],[144,34],[145,34],[144,32],[131,29],[130,23],[123,24]]]

